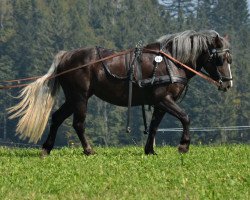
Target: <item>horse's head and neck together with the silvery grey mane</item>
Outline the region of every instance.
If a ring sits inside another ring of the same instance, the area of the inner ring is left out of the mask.
[[[227,91],[233,86],[229,42],[216,31],[187,30],[162,36],[157,41],[178,61],[198,71],[203,67],[212,79],[220,83],[219,90]]]

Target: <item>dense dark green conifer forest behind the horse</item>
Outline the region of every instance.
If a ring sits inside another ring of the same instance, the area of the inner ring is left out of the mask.
[[[187,29],[214,29],[227,36],[233,54],[234,87],[221,93],[199,77],[190,82],[181,105],[190,114],[191,127],[250,125],[247,1],[237,0],[2,0],[0,1],[0,85],[3,80],[42,75],[59,50],[104,46],[116,50],[154,42],[162,35]],[[19,141],[16,120],[6,108],[14,105],[19,90],[0,91],[0,138]],[[63,101],[60,94],[55,108]],[[147,111],[150,118],[151,111]],[[77,143],[65,121],[57,145]],[[145,142],[139,108],[133,108],[132,133],[125,132],[126,109],[92,97],[86,133],[95,145],[141,145]],[[166,115],[161,128],[181,127]],[[48,129],[46,129],[47,134]],[[181,133],[159,133],[158,144],[175,145]],[[247,131],[193,132],[193,143],[249,143]],[[43,141],[43,140],[42,140]]]

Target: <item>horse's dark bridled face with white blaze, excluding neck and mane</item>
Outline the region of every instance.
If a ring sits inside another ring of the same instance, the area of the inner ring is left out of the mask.
[[[203,68],[212,79],[220,83],[219,90],[227,91],[233,86],[231,63],[229,43],[226,38],[216,35],[208,45],[207,61]]]

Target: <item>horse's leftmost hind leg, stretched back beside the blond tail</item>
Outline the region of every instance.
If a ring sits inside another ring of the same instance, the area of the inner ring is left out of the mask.
[[[52,114],[49,135],[43,144],[41,156],[46,156],[53,149],[56,139],[56,133],[63,121],[73,113],[72,104],[65,102],[56,112]],[[42,117],[42,116],[41,116]]]

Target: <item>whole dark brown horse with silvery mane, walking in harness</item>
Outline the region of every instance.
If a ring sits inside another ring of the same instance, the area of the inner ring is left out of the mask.
[[[229,47],[226,38],[214,30],[187,30],[164,35],[154,43],[118,55],[101,47],[60,51],[47,74],[22,89],[21,101],[9,109],[10,118],[20,118],[16,132],[21,138],[37,143],[61,86],[65,102],[52,114],[41,155],[50,154],[59,126],[71,115],[83,153],[91,155],[95,151],[85,136],[89,98],[95,95],[108,103],[127,107],[131,83],[131,106],[150,105],[154,108],[145,154],[156,154],[154,140],[165,113],[180,120],[183,133],[178,150],[186,153],[190,145],[190,119],[177,100],[196,74],[165,55],[171,55],[197,72],[205,70],[218,83],[218,89],[225,92],[233,86]]]

